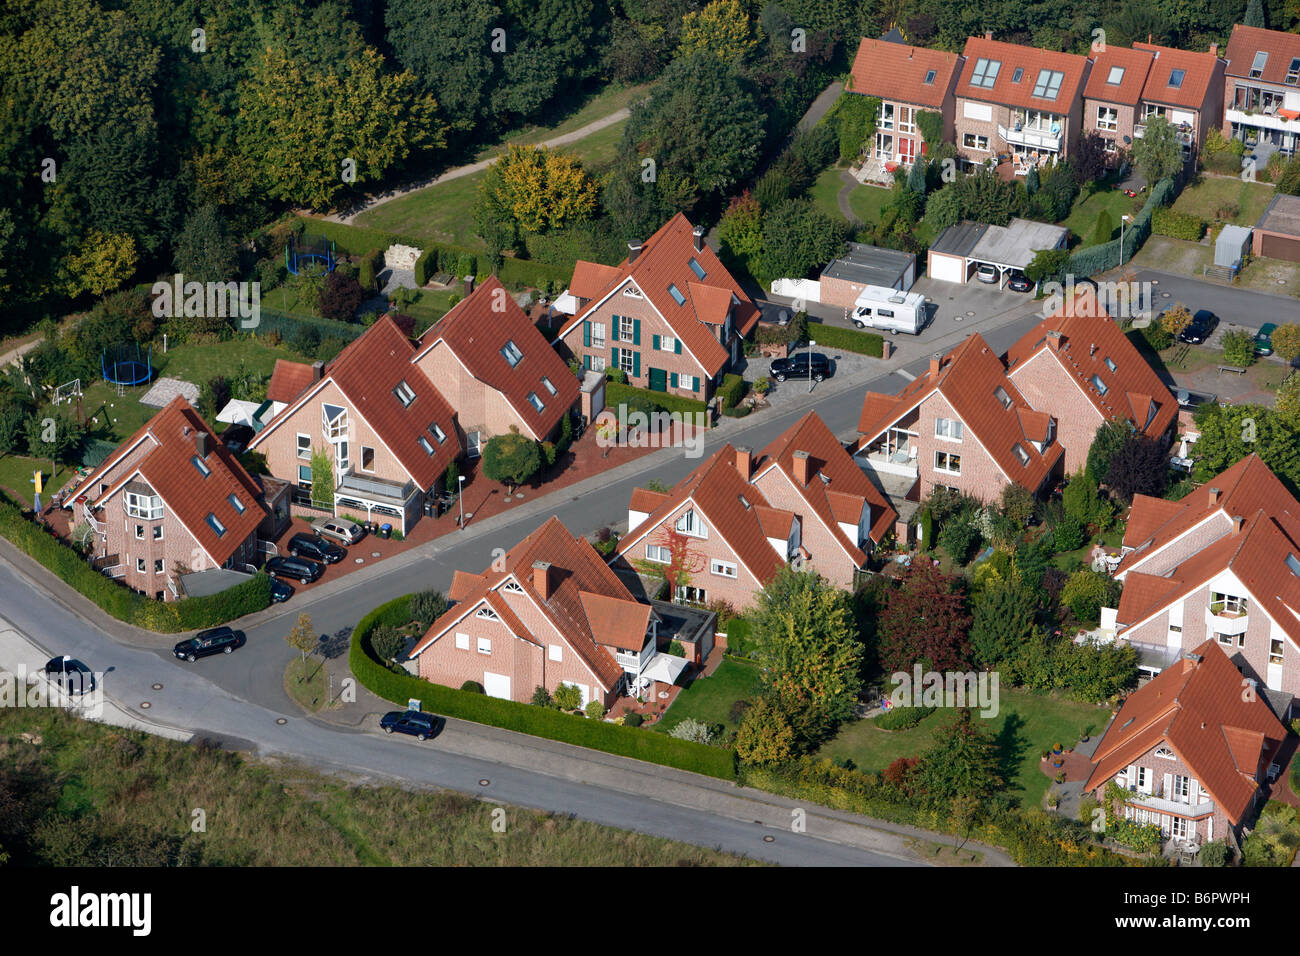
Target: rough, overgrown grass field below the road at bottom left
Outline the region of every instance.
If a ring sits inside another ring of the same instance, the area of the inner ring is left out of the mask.
[[[39,744],[20,740],[40,735]],[[378,743],[378,741],[376,741]],[[417,752],[412,749],[412,760]],[[17,782],[21,780],[21,787]],[[443,791],[352,786],[60,710],[0,713],[14,865],[710,866],[740,857]],[[205,831],[191,832],[202,809]]]

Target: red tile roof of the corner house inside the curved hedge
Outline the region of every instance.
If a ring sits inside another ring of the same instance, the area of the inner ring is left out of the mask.
[[[551,593],[546,601],[533,589],[533,564],[540,561],[550,564]],[[497,567],[502,570],[498,571]],[[484,571],[477,576],[477,583],[469,575],[458,579],[459,584],[454,587],[465,591],[456,606],[433,623],[411,650],[411,656],[420,654],[446,633],[467,607],[481,601],[490,601],[516,636],[534,644],[550,643],[549,639],[532,633],[514,613],[502,613],[500,609],[510,610],[508,602],[497,589],[511,578],[537,602],[604,689],[611,689],[623,676],[623,669],[608,648],[630,646],[640,650],[645,643],[651,609],[632,597],[590,542],[569,533],[559,518],[549,519],[511,548],[503,563]],[[629,628],[636,623],[641,627],[640,636],[630,635]],[[629,645],[620,641],[632,643]]]

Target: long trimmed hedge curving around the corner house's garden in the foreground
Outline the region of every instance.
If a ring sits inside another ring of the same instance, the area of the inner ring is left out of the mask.
[[[646,734],[604,721],[562,714],[558,710],[519,704],[499,697],[486,697],[468,691],[455,691],[432,684],[410,674],[398,674],[380,663],[370,650],[370,633],[376,627],[400,627],[411,620],[411,596],[382,604],[358,623],[352,631],[348,663],[352,674],[380,697],[406,704],[415,697],[421,706],[442,714],[547,740],[560,740],[593,750],[644,760],[650,763],[689,770],[722,780],[736,778],[734,754],[718,747],[696,744],[662,734]]]

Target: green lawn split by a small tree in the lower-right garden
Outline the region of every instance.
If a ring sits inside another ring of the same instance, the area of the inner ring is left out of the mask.
[[[1006,792],[1022,806],[1037,806],[1052,784],[1039,769],[1043,752],[1056,743],[1074,747],[1084,731],[1100,734],[1108,713],[1046,695],[998,691],[998,714],[988,718],[988,728],[997,740]],[[871,721],[855,721],[824,744],[818,756],[852,760],[862,770],[884,770],[900,757],[919,757],[952,721],[948,710],[937,710],[904,731],[883,731]]]

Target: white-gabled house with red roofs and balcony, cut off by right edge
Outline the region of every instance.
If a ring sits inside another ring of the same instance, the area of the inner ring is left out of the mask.
[[[1115,640],[1147,672],[1217,643],[1288,718],[1300,693],[1300,502],[1254,454],[1182,498],[1134,497]]]

